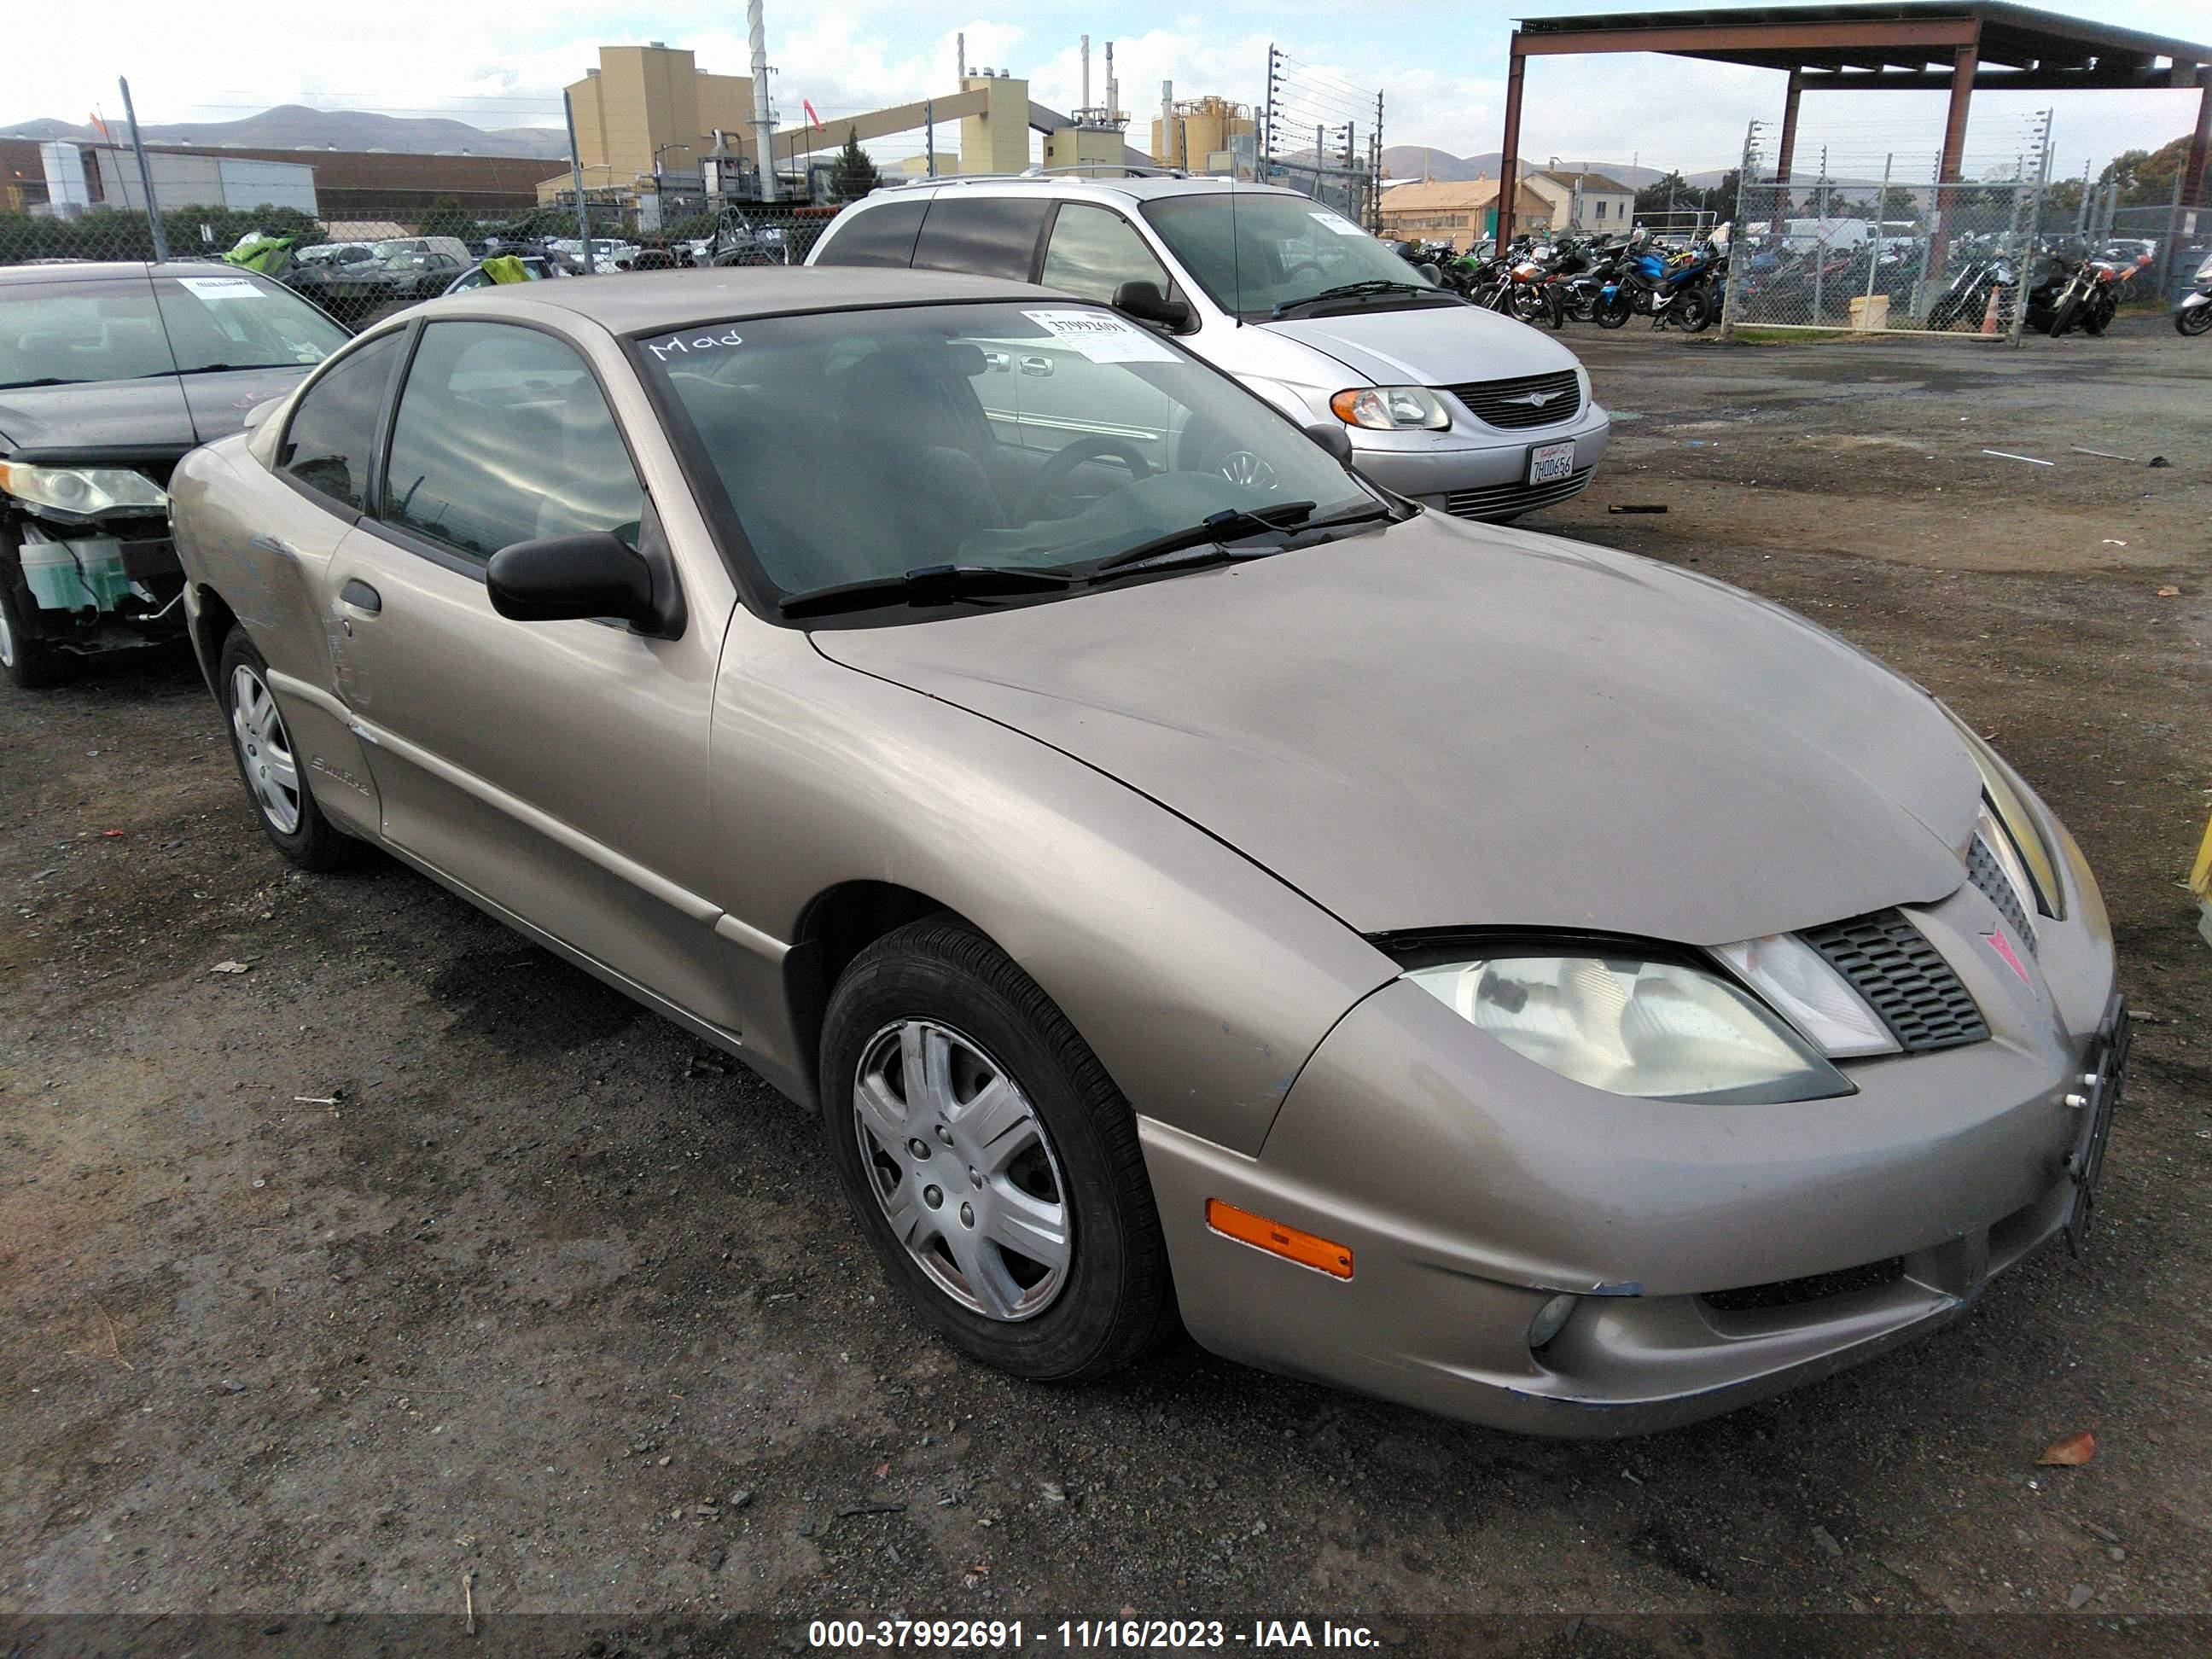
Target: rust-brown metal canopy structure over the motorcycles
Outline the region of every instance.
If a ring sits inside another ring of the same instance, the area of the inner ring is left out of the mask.
[[[2194,206],[2203,197],[2205,150],[2212,142],[2212,46],[2017,7],[2008,0],[1610,11],[1584,18],[1526,18],[1513,31],[1498,190],[1500,248],[1513,234],[1526,62],[1613,51],[1655,51],[1783,71],[1790,91],[1783,102],[1776,184],[1790,181],[1798,97],[1807,88],[1949,91],[1940,175],[1944,184],[1958,181],[1966,148],[1966,106],[1975,91],[2199,88],[2197,135],[2181,170],[2181,201]]]

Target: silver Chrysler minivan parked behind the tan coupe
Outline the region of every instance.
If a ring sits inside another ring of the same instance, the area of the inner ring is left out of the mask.
[[[1548,334],[1464,303],[1294,190],[1183,177],[938,179],[836,217],[810,265],[911,265],[1037,281],[1181,338],[1298,425],[1343,422],[1374,482],[1462,518],[1582,493],[1610,420]],[[1004,376],[1004,378],[1000,378]],[[1051,352],[991,354],[993,420],[1144,447],[1126,411],[1060,409]],[[1208,442],[1183,434],[1181,442]],[[1221,442],[1239,482],[1256,456]],[[1179,460],[1179,465],[1190,465]]]

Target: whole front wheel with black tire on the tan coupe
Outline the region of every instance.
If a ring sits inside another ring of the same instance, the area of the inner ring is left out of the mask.
[[[927,918],[860,951],[830,998],[821,1079],[845,1199],[953,1347],[1084,1383],[1172,1321],[1137,1117],[987,938]]]

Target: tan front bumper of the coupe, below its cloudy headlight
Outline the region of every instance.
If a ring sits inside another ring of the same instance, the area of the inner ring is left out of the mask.
[[[1183,1321],[1263,1369],[1542,1436],[1694,1422],[1936,1329],[2084,1219],[2124,1053],[2084,909],[2046,925],[2035,995],[1975,956],[1997,925],[1978,891],[1918,911],[1991,1040],[1858,1064],[1858,1095],[1798,1106],[1593,1095],[1394,982],[1256,1159],[1141,1124]],[[1212,1232],[1208,1199],[1349,1248],[1354,1276]],[[1531,1352],[1562,1292],[1566,1327]]]

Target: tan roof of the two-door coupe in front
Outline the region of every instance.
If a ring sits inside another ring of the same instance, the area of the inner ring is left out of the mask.
[[[588,316],[611,334],[653,334],[690,323],[734,321],[741,316],[774,316],[779,312],[841,312],[880,305],[940,305],[991,299],[1051,299],[1071,305],[1066,294],[1031,283],[1009,283],[991,276],[962,276],[940,270],[898,270],[889,265],[768,265],[710,270],[650,270],[584,276],[546,288],[531,285],[513,294],[518,305]],[[425,314],[436,316],[440,301]],[[469,305],[467,316],[482,316],[482,305]]]

